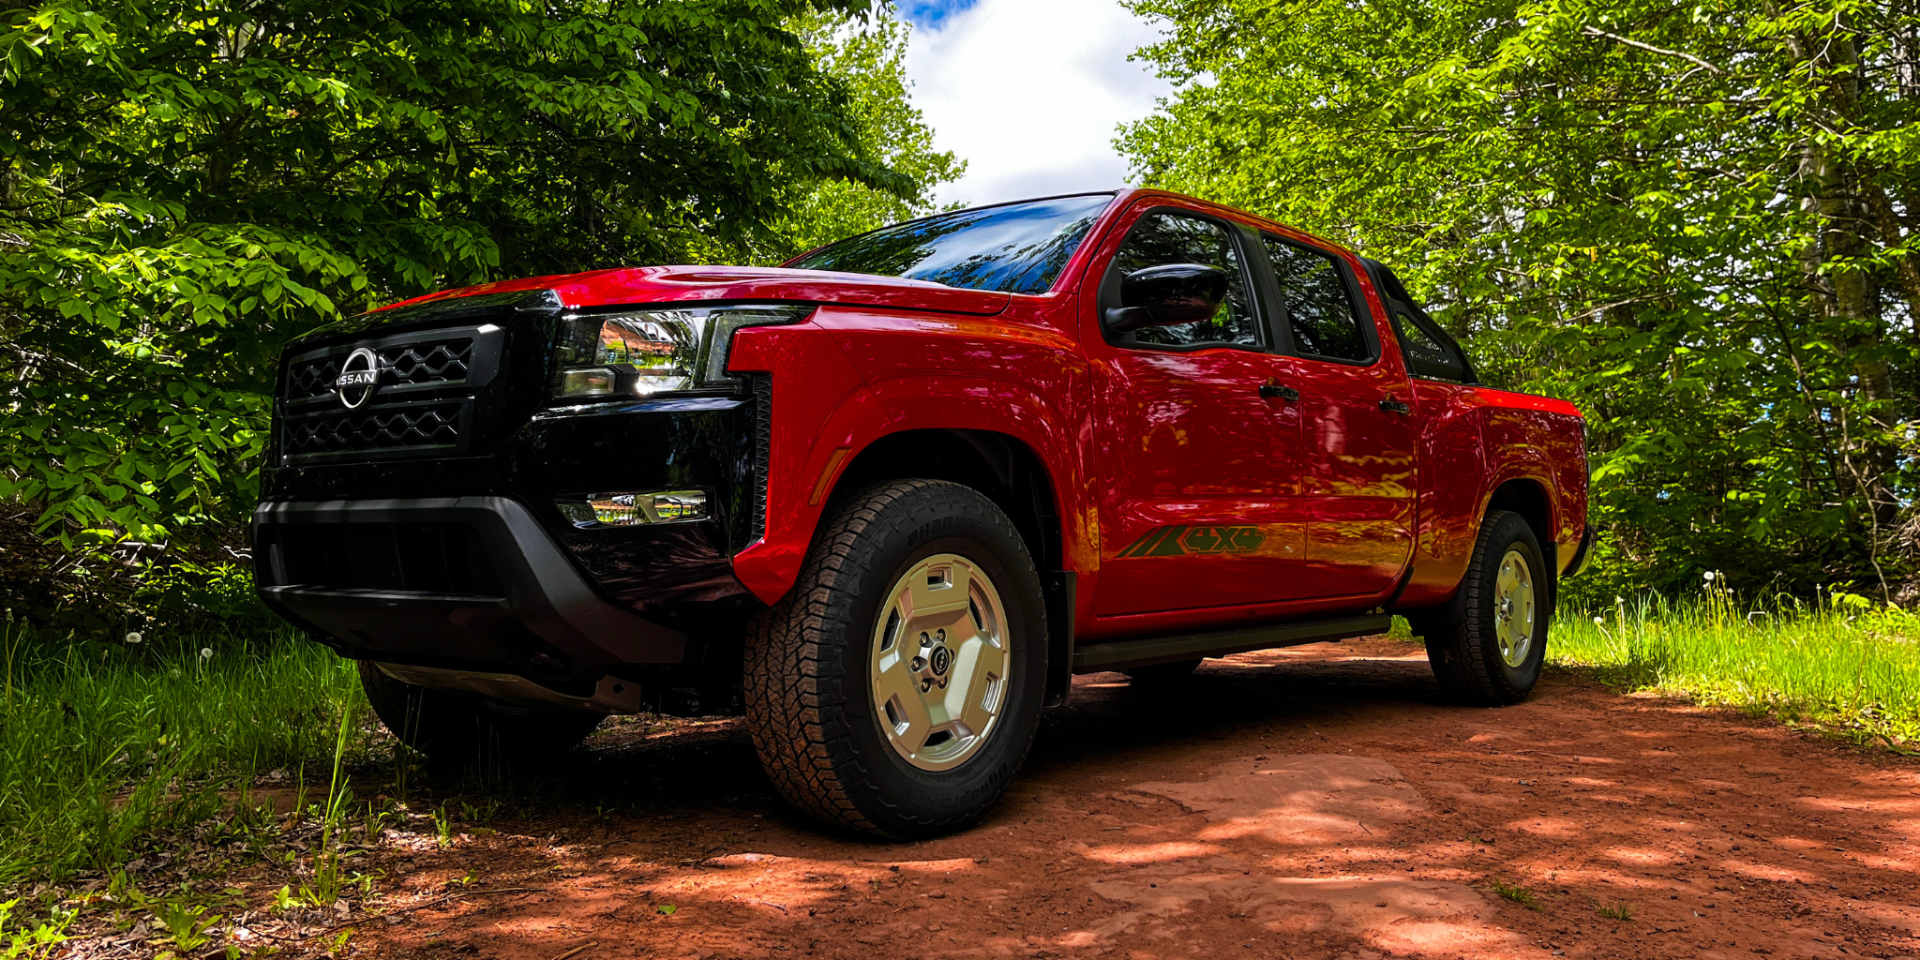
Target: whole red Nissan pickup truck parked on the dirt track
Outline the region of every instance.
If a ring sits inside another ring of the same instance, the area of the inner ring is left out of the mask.
[[[1586,482],[1580,411],[1478,386],[1384,265],[1121,190],[321,328],[253,538],[428,756],[739,710],[795,806],[918,837],[1073,674],[1402,614],[1452,695],[1524,699]]]

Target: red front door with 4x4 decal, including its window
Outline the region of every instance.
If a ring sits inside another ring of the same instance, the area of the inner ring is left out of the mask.
[[[1288,478],[1304,470],[1298,417],[1273,390],[1288,359],[1252,298],[1258,242],[1188,209],[1150,209],[1112,253],[1102,311],[1119,278],[1167,263],[1231,275],[1204,323],[1106,332],[1096,371],[1100,616],[1269,603],[1300,595],[1292,576],[1306,522]],[[1288,424],[1292,434],[1288,434]]]

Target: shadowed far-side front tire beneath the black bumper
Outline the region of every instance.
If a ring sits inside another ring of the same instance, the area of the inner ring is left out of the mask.
[[[540,710],[493,705],[386,676],[361,660],[361,687],[372,712],[401,743],[434,764],[530,766],[551,762],[578,745],[603,720],[582,710]]]

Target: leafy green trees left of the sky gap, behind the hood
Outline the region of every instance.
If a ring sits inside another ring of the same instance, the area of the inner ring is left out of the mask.
[[[265,622],[282,346],[430,290],[780,263],[964,171],[868,0],[0,0],[0,597]]]

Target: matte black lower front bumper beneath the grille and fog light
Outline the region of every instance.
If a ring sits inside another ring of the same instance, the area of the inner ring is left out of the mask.
[[[595,591],[511,497],[263,503],[253,551],[267,605],[359,660],[516,676],[620,710],[591,703],[603,680],[687,649]]]

